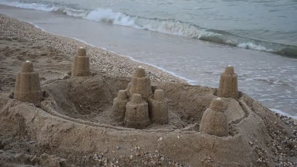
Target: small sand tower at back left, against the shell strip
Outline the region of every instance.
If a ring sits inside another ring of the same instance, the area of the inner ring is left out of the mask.
[[[86,56],[85,48],[81,47],[74,56],[71,75],[75,77],[88,77],[90,74],[90,58]]]

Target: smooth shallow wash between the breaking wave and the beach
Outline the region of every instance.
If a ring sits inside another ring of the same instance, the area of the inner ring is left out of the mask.
[[[51,12],[2,6],[0,13],[156,65],[191,84],[218,87],[220,73],[231,64],[239,90],[269,108],[297,115],[297,59]]]

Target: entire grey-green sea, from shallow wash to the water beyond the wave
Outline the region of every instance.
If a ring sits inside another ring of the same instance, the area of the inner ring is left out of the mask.
[[[190,84],[217,87],[220,73],[231,64],[239,90],[274,111],[297,116],[297,0],[0,4],[25,8],[0,13],[152,64]]]

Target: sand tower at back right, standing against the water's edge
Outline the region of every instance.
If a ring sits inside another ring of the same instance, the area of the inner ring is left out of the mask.
[[[238,99],[237,74],[234,73],[233,66],[229,65],[221,74],[217,94],[219,97]]]

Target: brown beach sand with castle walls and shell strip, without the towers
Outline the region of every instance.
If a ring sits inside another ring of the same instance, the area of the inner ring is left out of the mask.
[[[71,77],[80,47],[90,57],[89,77]],[[27,60],[39,72],[39,107],[14,99],[16,73]],[[186,84],[156,68],[6,16],[0,16],[0,64],[2,166],[296,166],[296,120],[271,112],[242,92],[238,100],[221,98],[227,134],[210,135],[199,126],[217,88]],[[113,117],[113,100],[139,65],[153,89],[162,89],[168,99],[168,124],[133,129]]]

